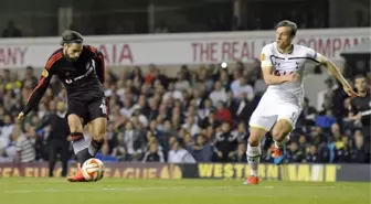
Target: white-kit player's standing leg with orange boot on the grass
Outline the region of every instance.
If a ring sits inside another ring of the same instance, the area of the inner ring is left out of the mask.
[[[250,167],[250,176],[244,184],[258,184],[258,165],[261,161],[261,141],[267,130],[263,128],[251,127],[247,143],[247,162]]]

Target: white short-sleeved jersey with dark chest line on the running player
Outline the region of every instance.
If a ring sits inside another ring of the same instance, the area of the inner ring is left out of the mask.
[[[304,68],[308,61],[320,63],[322,55],[312,49],[294,44],[289,54],[278,52],[277,43],[271,43],[262,49],[262,67],[273,66],[277,76],[297,73],[300,80],[297,83],[286,82],[278,85],[269,85],[265,95],[271,99],[293,103],[300,106],[304,99]]]

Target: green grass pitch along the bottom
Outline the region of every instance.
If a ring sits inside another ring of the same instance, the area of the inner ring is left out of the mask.
[[[371,183],[0,178],[1,204],[369,204]]]

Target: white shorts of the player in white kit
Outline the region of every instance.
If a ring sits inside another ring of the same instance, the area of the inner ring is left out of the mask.
[[[300,114],[300,106],[264,95],[250,118],[248,125],[250,127],[271,131],[276,121],[284,119],[295,129],[296,121]]]

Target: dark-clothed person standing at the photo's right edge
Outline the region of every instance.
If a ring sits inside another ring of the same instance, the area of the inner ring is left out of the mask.
[[[362,75],[354,77],[354,86],[359,96],[350,101],[349,119],[362,124],[363,148],[367,153],[367,162],[371,162],[371,94],[367,78]]]

